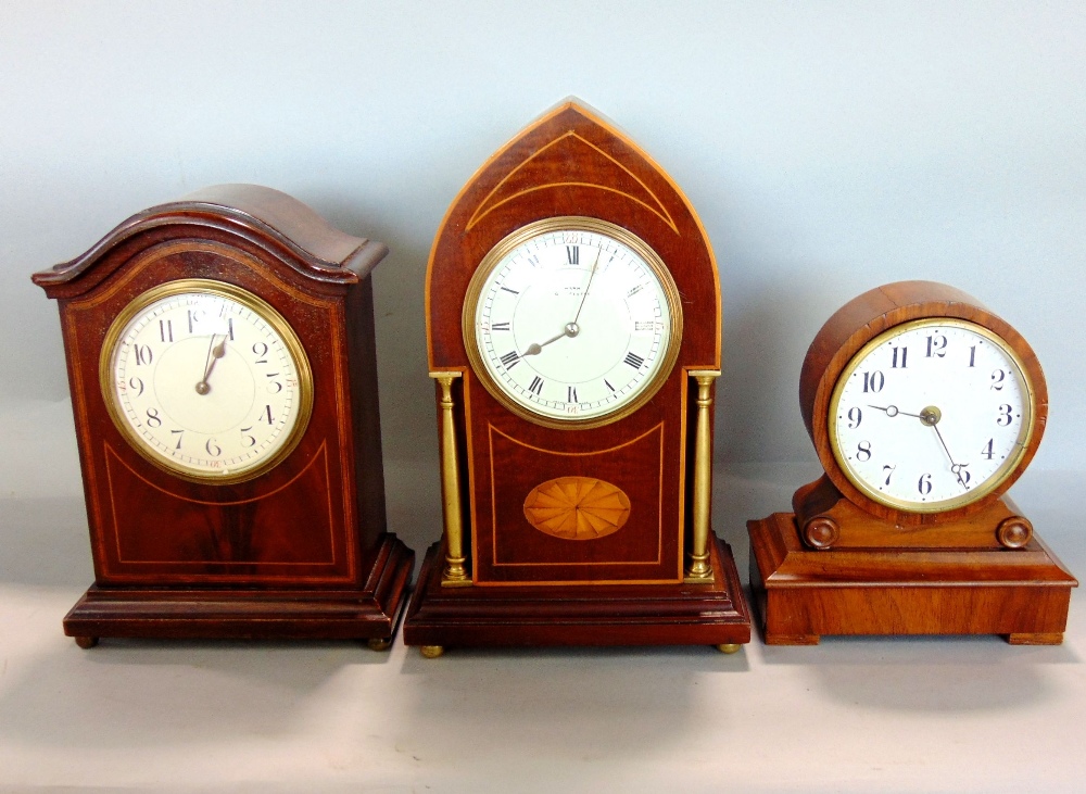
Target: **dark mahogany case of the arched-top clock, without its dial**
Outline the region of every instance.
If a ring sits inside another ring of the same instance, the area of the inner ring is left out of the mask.
[[[207,188],[121,224],[34,281],[56,299],[96,581],[64,619],[100,637],[367,639],[387,647],[414,554],[386,531],[370,272],[387,248],[278,191]],[[236,484],[137,454],[99,386],[110,324],[176,279],[241,287],[291,325],[313,370],[298,446]]]

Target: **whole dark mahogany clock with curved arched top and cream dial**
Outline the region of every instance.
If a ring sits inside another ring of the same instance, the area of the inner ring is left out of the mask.
[[[94,558],[65,633],[388,647],[414,555],[386,531],[387,252],[224,185],[35,274],[60,306]]]

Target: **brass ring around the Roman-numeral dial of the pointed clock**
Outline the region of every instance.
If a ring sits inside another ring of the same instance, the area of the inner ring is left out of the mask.
[[[668,303],[668,312],[671,320],[668,348],[660,357],[660,366],[656,374],[645,382],[641,391],[630,398],[629,402],[621,403],[605,414],[586,418],[574,417],[565,419],[540,414],[509,395],[487,368],[480,350],[481,341],[476,332],[476,311],[483,285],[494,268],[505,259],[506,254],[533,237],[565,230],[589,231],[610,237],[641,256],[660,283]],[[542,425],[543,427],[558,430],[585,430],[610,425],[629,416],[645,405],[660,390],[660,387],[664,386],[674,369],[675,362],[679,358],[679,349],[682,346],[682,305],[679,288],[675,287],[674,279],[671,277],[667,265],[664,264],[664,260],[640,237],[629,229],[624,229],[608,220],[585,217],[583,215],[559,215],[522,226],[503,238],[483,256],[475,274],[471,276],[471,281],[468,283],[464,300],[464,311],[460,316],[460,330],[471,370],[479,378],[483,388],[490,392],[491,396],[497,400],[505,408],[522,419]]]

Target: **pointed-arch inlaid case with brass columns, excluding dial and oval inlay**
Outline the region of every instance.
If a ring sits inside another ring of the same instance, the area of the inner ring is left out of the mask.
[[[685,317],[678,362],[655,396],[590,429],[544,427],[503,407],[472,370],[462,333],[466,291],[487,253],[527,224],[567,216],[610,222],[644,240],[674,278]],[[564,103],[460,191],[433,243],[426,298],[445,532],[422,564],[404,641],[432,655],[455,645],[734,650],[748,642],[731,551],[709,529],[717,268],[669,177],[594,113]],[[632,504],[629,522],[591,541],[538,530],[526,519],[526,497],[567,477],[621,489]],[[690,583],[684,553],[697,542],[695,524],[704,527],[705,554]]]

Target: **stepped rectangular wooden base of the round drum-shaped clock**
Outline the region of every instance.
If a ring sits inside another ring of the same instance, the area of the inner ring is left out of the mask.
[[[1022,549],[832,549],[795,515],[748,521],[750,587],[769,645],[824,634],[1001,634],[1058,645],[1078,582],[1036,534]]]

